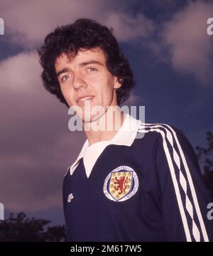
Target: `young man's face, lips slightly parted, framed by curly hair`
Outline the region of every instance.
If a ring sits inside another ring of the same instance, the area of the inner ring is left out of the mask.
[[[118,105],[116,89],[121,83],[107,69],[101,48],[82,49],[71,60],[62,53],[55,61],[55,71],[67,104],[82,111],[83,121],[88,120],[88,114],[89,121],[104,114],[92,113],[95,106],[107,112],[107,107]]]

